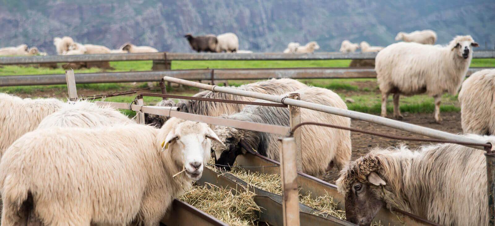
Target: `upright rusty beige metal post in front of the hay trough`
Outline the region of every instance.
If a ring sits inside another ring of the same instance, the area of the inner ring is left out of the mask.
[[[280,174],[282,175],[282,202],[284,226],[298,226],[299,199],[296,171],[296,142],[294,137],[280,141]]]

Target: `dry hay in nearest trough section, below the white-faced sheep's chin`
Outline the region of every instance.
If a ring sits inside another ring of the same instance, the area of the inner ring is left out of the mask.
[[[253,200],[254,193],[207,185],[194,186],[179,196],[179,199],[228,225],[256,225],[258,221],[256,213],[261,210]]]

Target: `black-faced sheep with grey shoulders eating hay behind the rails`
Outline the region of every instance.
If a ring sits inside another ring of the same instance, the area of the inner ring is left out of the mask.
[[[344,101],[331,90],[318,87],[305,87],[294,91],[301,100],[316,104],[346,109]],[[289,96],[290,93],[282,96]],[[301,121],[327,122],[333,125],[350,126],[350,119],[335,114],[322,113],[308,109],[300,109]],[[240,113],[222,115],[223,118],[250,121],[257,123],[289,126],[289,110],[287,108],[247,106]],[[335,164],[341,169],[350,160],[351,141],[347,130],[304,126],[301,131],[302,171],[310,175],[320,175],[330,170]],[[233,127],[215,126],[213,129],[226,146],[213,144],[212,150],[215,164],[232,166],[237,155],[246,151],[279,160],[279,142],[282,135],[255,132]],[[230,170],[230,167],[224,167]]]

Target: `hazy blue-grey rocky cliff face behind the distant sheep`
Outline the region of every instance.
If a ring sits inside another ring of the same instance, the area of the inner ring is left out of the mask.
[[[3,0],[0,47],[26,43],[54,53],[54,37],[118,48],[130,41],[160,51],[191,52],[184,37],[234,32],[241,49],[283,51],[290,41],[318,41],[337,51],[344,39],[386,46],[397,32],[432,29],[438,43],[472,35],[495,42],[493,0]]]

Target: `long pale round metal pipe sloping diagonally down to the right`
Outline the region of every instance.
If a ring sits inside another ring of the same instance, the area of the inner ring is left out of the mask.
[[[233,94],[233,95],[239,95],[239,96],[245,96],[245,97],[252,97],[256,99],[261,99],[261,100],[267,100],[275,103],[281,103],[281,104],[286,104],[286,105],[292,105],[292,106],[297,106],[300,108],[306,108],[314,111],[319,111],[319,112],[325,112],[325,113],[331,113],[331,114],[336,114],[344,117],[349,117],[353,119],[358,119],[362,121],[367,121],[367,122],[372,122],[375,124],[391,127],[394,129],[399,129],[411,133],[416,133],[419,135],[435,138],[435,139],[445,139],[445,140],[452,140],[452,141],[462,141],[462,142],[469,142],[469,143],[476,143],[476,144],[485,144],[486,142],[474,140],[471,138],[447,133],[444,131],[440,130],[435,130],[435,129],[430,129],[418,125],[413,125],[401,121],[396,121],[393,119],[389,118],[384,118],[372,114],[367,114],[367,113],[360,113],[360,112],[354,112],[354,111],[349,111],[345,109],[340,109],[340,108],[335,108],[335,107],[330,107],[326,105],[321,105],[321,104],[314,104],[314,103],[309,103],[305,101],[300,101],[300,100],[294,100],[290,98],[284,98],[281,96],[275,96],[275,95],[269,95],[269,94],[261,94],[261,93],[256,93],[256,92],[250,92],[250,91],[245,91],[245,90],[238,90],[238,89],[232,89],[228,87],[220,87],[216,85],[208,85],[208,84],[203,84],[203,83],[198,83],[198,82],[193,82],[193,81],[188,81],[184,79],[179,79],[175,77],[169,77],[165,76],[163,77],[165,81],[169,82],[175,82],[178,84],[182,85],[188,85],[188,86],[193,86],[197,87],[200,89],[204,90],[211,90],[214,92],[222,92],[222,93],[228,93],[228,94]],[[484,150],[482,147],[475,146],[472,148],[476,149],[481,149]]]

